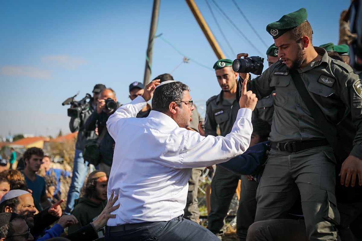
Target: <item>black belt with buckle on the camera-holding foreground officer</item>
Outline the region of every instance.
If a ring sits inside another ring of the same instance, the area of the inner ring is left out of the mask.
[[[290,141],[286,143],[271,142],[270,148],[277,151],[286,151],[289,153],[303,151],[320,146],[330,146],[327,139],[313,141]]]

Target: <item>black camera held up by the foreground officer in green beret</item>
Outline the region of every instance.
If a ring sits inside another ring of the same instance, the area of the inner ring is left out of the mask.
[[[232,62],[232,69],[237,73],[252,73],[261,75],[264,68],[264,58],[259,56],[236,59]]]

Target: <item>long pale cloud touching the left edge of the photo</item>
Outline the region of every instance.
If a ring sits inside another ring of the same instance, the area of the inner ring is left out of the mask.
[[[51,72],[27,65],[4,65],[0,67],[0,74],[7,76],[25,76],[38,79],[49,79]]]

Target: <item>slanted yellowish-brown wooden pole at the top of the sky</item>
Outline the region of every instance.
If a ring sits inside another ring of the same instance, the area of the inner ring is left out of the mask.
[[[218,42],[216,42],[216,39],[214,38],[214,35],[212,35],[211,30],[209,26],[207,25],[206,21],[202,17],[200,10],[196,6],[194,0],[186,0],[187,5],[189,5],[189,8],[191,12],[194,14],[194,17],[196,18],[197,23],[200,25],[201,30],[205,34],[207,41],[209,41],[209,44],[214,50],[216,57],[218,59],[225,59],[225,55],[221,51]]]

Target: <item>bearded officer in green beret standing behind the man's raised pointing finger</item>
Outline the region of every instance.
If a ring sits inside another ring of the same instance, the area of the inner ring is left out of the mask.
[[[232,70],[232,60],[230,59],[216,61],[213,68],[222,91],[206,102],[205,136],[216,136],[217,127],[219,127],[220,135],[225,136],[230,133],[236,120],[237,111],[240,109],[236,99],[237,73]],[[212,178],[211,210],[207,217],[207,229],[219,238],[223,235],[224,219],[239,179],[240,175],[219,166]]]

